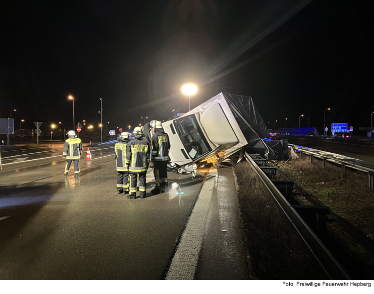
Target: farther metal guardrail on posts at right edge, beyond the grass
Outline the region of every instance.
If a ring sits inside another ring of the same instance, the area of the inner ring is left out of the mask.
[[[325,167],[327,161],[341,165],[343,178],[346,175],[346,167],[368,173],[368,186],[371,191],[374,191],[374,163],[294,144],[288,144],[288,146],[291,148],[294,147],[297,151],[299,151],[300,158],[303,158],[303,154],[309,155],[311,163],[313,163],[313,158],[317,157],[323,159]]]

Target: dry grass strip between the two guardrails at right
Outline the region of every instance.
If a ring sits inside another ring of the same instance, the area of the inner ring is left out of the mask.
[[[367,174],[346,169],[343,179],[340,166],[327,163],[324,168],[322,160],[311,164],[309,158],[274,164],[320,204],[374,239],[374,192],[368,189]]]

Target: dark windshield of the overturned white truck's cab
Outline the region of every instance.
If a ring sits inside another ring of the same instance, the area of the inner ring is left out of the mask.
[[[174,125],[192,160],[198,159],[211,151],[194,114],[176,119]]]

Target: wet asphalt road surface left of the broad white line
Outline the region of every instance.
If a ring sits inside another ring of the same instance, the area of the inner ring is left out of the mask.
[[[3,166],[1,279],[163,278],[207,170],[170,172],[170,191],[157,196],[149,170],[147,197],[130,200],[116,193],[113,148],[90,151],[77,179],[62,175],[62,156]]]

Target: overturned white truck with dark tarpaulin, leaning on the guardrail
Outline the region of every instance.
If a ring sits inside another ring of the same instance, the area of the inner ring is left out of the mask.
[[[275,157],[263,140],[268,130],[250,96],[220,93],[162,125],[170,137],[171,164],[184,171],[217,164],[240,149]]]

